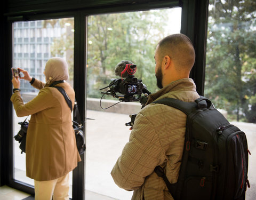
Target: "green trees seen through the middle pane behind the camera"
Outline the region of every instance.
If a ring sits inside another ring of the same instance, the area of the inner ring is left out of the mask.
[[[164,37],[167,12],[155,10],[119,14],[92,15],[88,23],[87,91],[89,97],[99,98],[99,89],[115,76],[114,69],[121,60],[137,65],[135,77],[142,79],[151,92],[157,90],[154,51]],[[161,19],[161,20],[160,20]]]

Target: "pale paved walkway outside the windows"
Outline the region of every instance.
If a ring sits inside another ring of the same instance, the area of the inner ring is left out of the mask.
[[[87,110],[86,126],[86,184],[85,195],[88,200],[131,199],[132,191],[125,191],[117,187],[110,172],[116,163],[125,143],[129,140],[130,122],[126,114],[107,113]],[[22,118],[15,117],[15,130],[19,130],[18,122]],[[251,188],[247,189],[246,200],[256,199],[256,124],[234,122],[246,133],[251,151],[249,162],[249,180]],[[15,178],[33,184],[33,180],[25,177],[25,155],[20,154],[18,144],[15,143]],[[71,179],[72,180],[72,179]],[[71,183],[71,182],[70,182]],[[71,191],[70,191],[71,194]]]

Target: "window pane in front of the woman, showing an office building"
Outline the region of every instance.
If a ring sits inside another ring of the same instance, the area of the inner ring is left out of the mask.
[[[53,19],[40,21],[15,22],[13,67],[29,71],[29,74],[41,81],[45,81],[44,67],[51,57],[65,58],[69,64],[69,83],[73,86],[74,69],[74,19]],[[22,73],[21,73],[21,76]],[[21,96],[26,103],[33,99],[38,90],[29,82],[21,79]],[[14,111],[14,134],[20,130],[18,122],[26,117],[17,117]],[[30,116],[28,117],[28,119]],[[20,154],[18,141],[14,140],[14,179],[34,185],[34,180],[26,177],[25,154]],[[70,173],[70,185],[72,184]],[[70,197],[71,197],[70,187]]]

